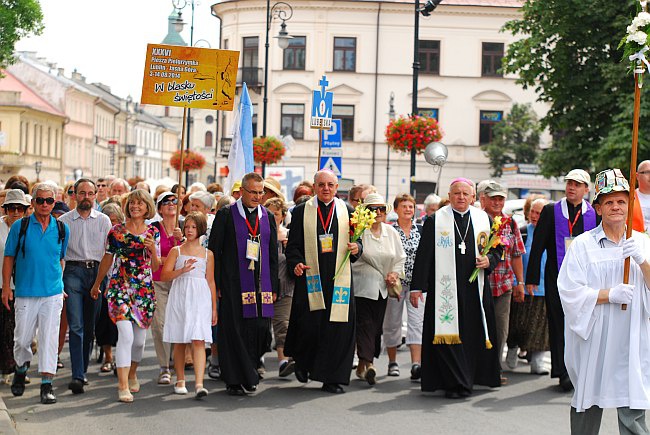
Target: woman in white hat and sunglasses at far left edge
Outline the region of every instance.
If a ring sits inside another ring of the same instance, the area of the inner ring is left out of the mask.
[[[0,252],[5,250],[5,242],[9,235],[9,230],[14,222],[25,215],[29,207],[29,201],[25,198],[22,190],[7,190],[5,201],[2,204],[4,216],[0,217]],[[9,284],[11,289],[14,288],[13,280]],[[0,288],[2,287],[2,276],[0,274]],[[16,319],[13,309],[14,301],[9,300],[11,311],[7,310],[4,305],[0,304],[0,374],[6,381],[8,375],[16,369],[14,361],[14,328]]]

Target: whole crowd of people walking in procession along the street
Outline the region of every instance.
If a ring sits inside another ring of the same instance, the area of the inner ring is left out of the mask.
[[[361,184],[340,199],[326,170],[291,201],[257,173],[228,192],[14,176],[0,191],[0,371],[21,396],[37,347],[40,399],[55,403],[67,330],[72,393],[88,386],[96,345],[118,400],[132,402],[151,329],[157,382],[175,394],[188,394],[192,366],[194,395],[205,397],[206,363],[228,394],[256,391],[273,343],[280,377],[340,394],[355,369],[378,382],[384,349],[386,375],[400,376],[406,307],[410,379],[422,391],[464,398],[475,385],[507,385],[527,360],[531,373],[575,389],[574,433],[594,433],[602,408],[618,408],[621,431],[647,433],[650,161],[638,173],[632,237],[630,186],[617,169],[597,175],[593,203],[582,169],[565,176],[559,201],[530,195],[521,227],[494,180],[454,179],[419,218],[407,193],[388,202]],[[374,223],[352,241],[360,205]]]

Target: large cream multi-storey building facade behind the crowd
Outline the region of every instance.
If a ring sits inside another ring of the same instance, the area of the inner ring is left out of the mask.
[[[343,178],[348,184],[374,184],[388,197],[408,191],[410,158],[389,151],[384,132],[389,113],[408,116],[412,111],[414,2],[289,3],[293,16],[286,26],[293,39],[281,50],[272,38],[281,21],[272,21],[266,84],[266,3],[223,0],[212,6],[221,19],[221,48],[241,51],[237,82],[247,83],[259,117],[267,86],[267,135],[293,138],[290,157],[269,169],[303,168],[307,176],[316,170],[318,133],[309,128],[311,93],[327,75],[328,89],[334,93],[334,118],[343,123]],[[521,17],[521,3],[445,0],[429,17],[420,16],[417,108],[420,114],[436,117],[444,132],[449,157],[441,186],[458,176],[489,177],[482,145],[490,141],[493,125],[513,103],[531,103],[538,116],[547,111],[532,90],[522,89],[515,76],[499,71],[513,41],[500,29]],[[219,142],[227,146],[233,114],[222,117],[220,137],[225,140]],[[259,125],[257,130],[261,135]],[[221,159],[218,171],[225,164]],[[434,168],[419,156],[415,180],[426,187],[418,196],[430,193],[437,178]]]

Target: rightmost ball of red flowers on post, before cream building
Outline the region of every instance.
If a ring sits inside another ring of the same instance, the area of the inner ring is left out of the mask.
[[[442,130],[438,121],[428,116],[400,116],[392,119],[386,127],[386,143],[395,151],[403,153],[410,153],[415,147],[420,154],[431,142],[441,139]]]

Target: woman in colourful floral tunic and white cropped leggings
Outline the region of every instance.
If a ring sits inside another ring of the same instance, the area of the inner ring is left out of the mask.
[[[124,204],[126,223],[115,225],[108,233],[106,254],[91,290],[91,296],[97,298],[102,279],[115,260],[106,299],[108,314],[117,326],[115,353],[121,402],[132,402],[131,393],[140,391],[136,369],[156,307],[152,274],[160,267],[160,233],[145,223],[155,212],[147,192],[135,190],[128,194]]]

